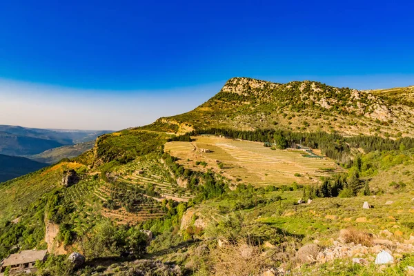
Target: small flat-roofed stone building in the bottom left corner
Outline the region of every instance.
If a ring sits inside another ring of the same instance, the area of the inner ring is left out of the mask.
[[[34,266],[37,261],[43,262],[46,259],[48,250],[23,250],[20,253],[12,254],[4,259],[0,264],[0,272],[10,266],[9,275],[17,273],[35,273],[37,268]]]

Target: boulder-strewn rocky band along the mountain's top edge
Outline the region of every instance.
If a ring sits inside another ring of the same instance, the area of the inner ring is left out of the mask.
[[[273,83],[246,77],[233,78],[226,82],[220,93],[252,97],[259,102],[277,103],[283,106],[298,103],[304,106],[319,106],[327,110],[342,110],[380,121],[388,121],[393,113],[384,101],[369,91],[350,88],[335,88],[316,81],[291,81]]]

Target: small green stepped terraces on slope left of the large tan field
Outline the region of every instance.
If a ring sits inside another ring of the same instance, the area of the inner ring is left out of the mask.
[[[117,168],[117,175],[128,184],[137,185],[142,189],[153,187],[160,197],[154,199],[173,199],[175,201],[188,201],[195,197],[190,191],[179,186],[170,172],[154,158],[142,158]]]

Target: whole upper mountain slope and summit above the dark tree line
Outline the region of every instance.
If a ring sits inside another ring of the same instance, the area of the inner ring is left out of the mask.
[[[235,77],[195,110],[161,118],[157,123],[163,125],[160,129],[175,132],[278,126],[299,131],[335,130],[344,135],[413,136],[411,102],[400,101],[390,91],[335,88],[317,81],[273,83]],[[412,95],[410,91],[406,92],[408,96]]]

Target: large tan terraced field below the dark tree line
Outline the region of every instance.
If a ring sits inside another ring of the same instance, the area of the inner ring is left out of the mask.
[[[179,158],[179,164],[192,170],[207,169],[255,186],[313,184],[320,177],[342,171],[328,158],[304,157],[299,150],[271,150],[262,143],[215,136],[193,137],[193,142],[172,141],[165,151]],[[199,162],[206,162],[199,164]],[[198,164],[198,165],[197,165]]]

